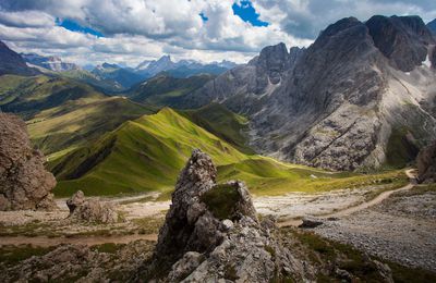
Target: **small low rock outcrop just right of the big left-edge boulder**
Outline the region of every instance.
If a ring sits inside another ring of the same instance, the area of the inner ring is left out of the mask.
[[[114,223],[118,221],[118,212],[110,204],[104,204],[98,199],[85,199],[82,190],[77,190],[66,200],[70,209],[70,218],[80,221]]]

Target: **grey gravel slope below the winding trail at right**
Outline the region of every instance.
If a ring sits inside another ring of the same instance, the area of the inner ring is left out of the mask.
[[[371,255],[436,271],[434,190],[417,187],[396,193],[371,209],[325,221],[314,231]]]

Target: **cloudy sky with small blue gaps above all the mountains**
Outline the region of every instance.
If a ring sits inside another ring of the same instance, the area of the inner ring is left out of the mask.
[[[263,47],[307,47],[327,25],[374,14],[436,19],[435,0],[0,0],[0,40],[84,64],[244,63]]]

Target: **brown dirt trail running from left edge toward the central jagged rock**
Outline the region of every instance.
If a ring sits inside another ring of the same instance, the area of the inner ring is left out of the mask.
[[[157,241],[157,234],[134,234],[134,235],[121,235],[121,236],[74,236],[74,237],[47,237],[47,236],[7,236],[1,237],[0,246],[8,245],[32,245],[36,247],[52,247],[61,244],[75,244],[75,245],[87,245],[95,246],[106,243],[113,244],[129,244],[130,242],[137,239]]]

